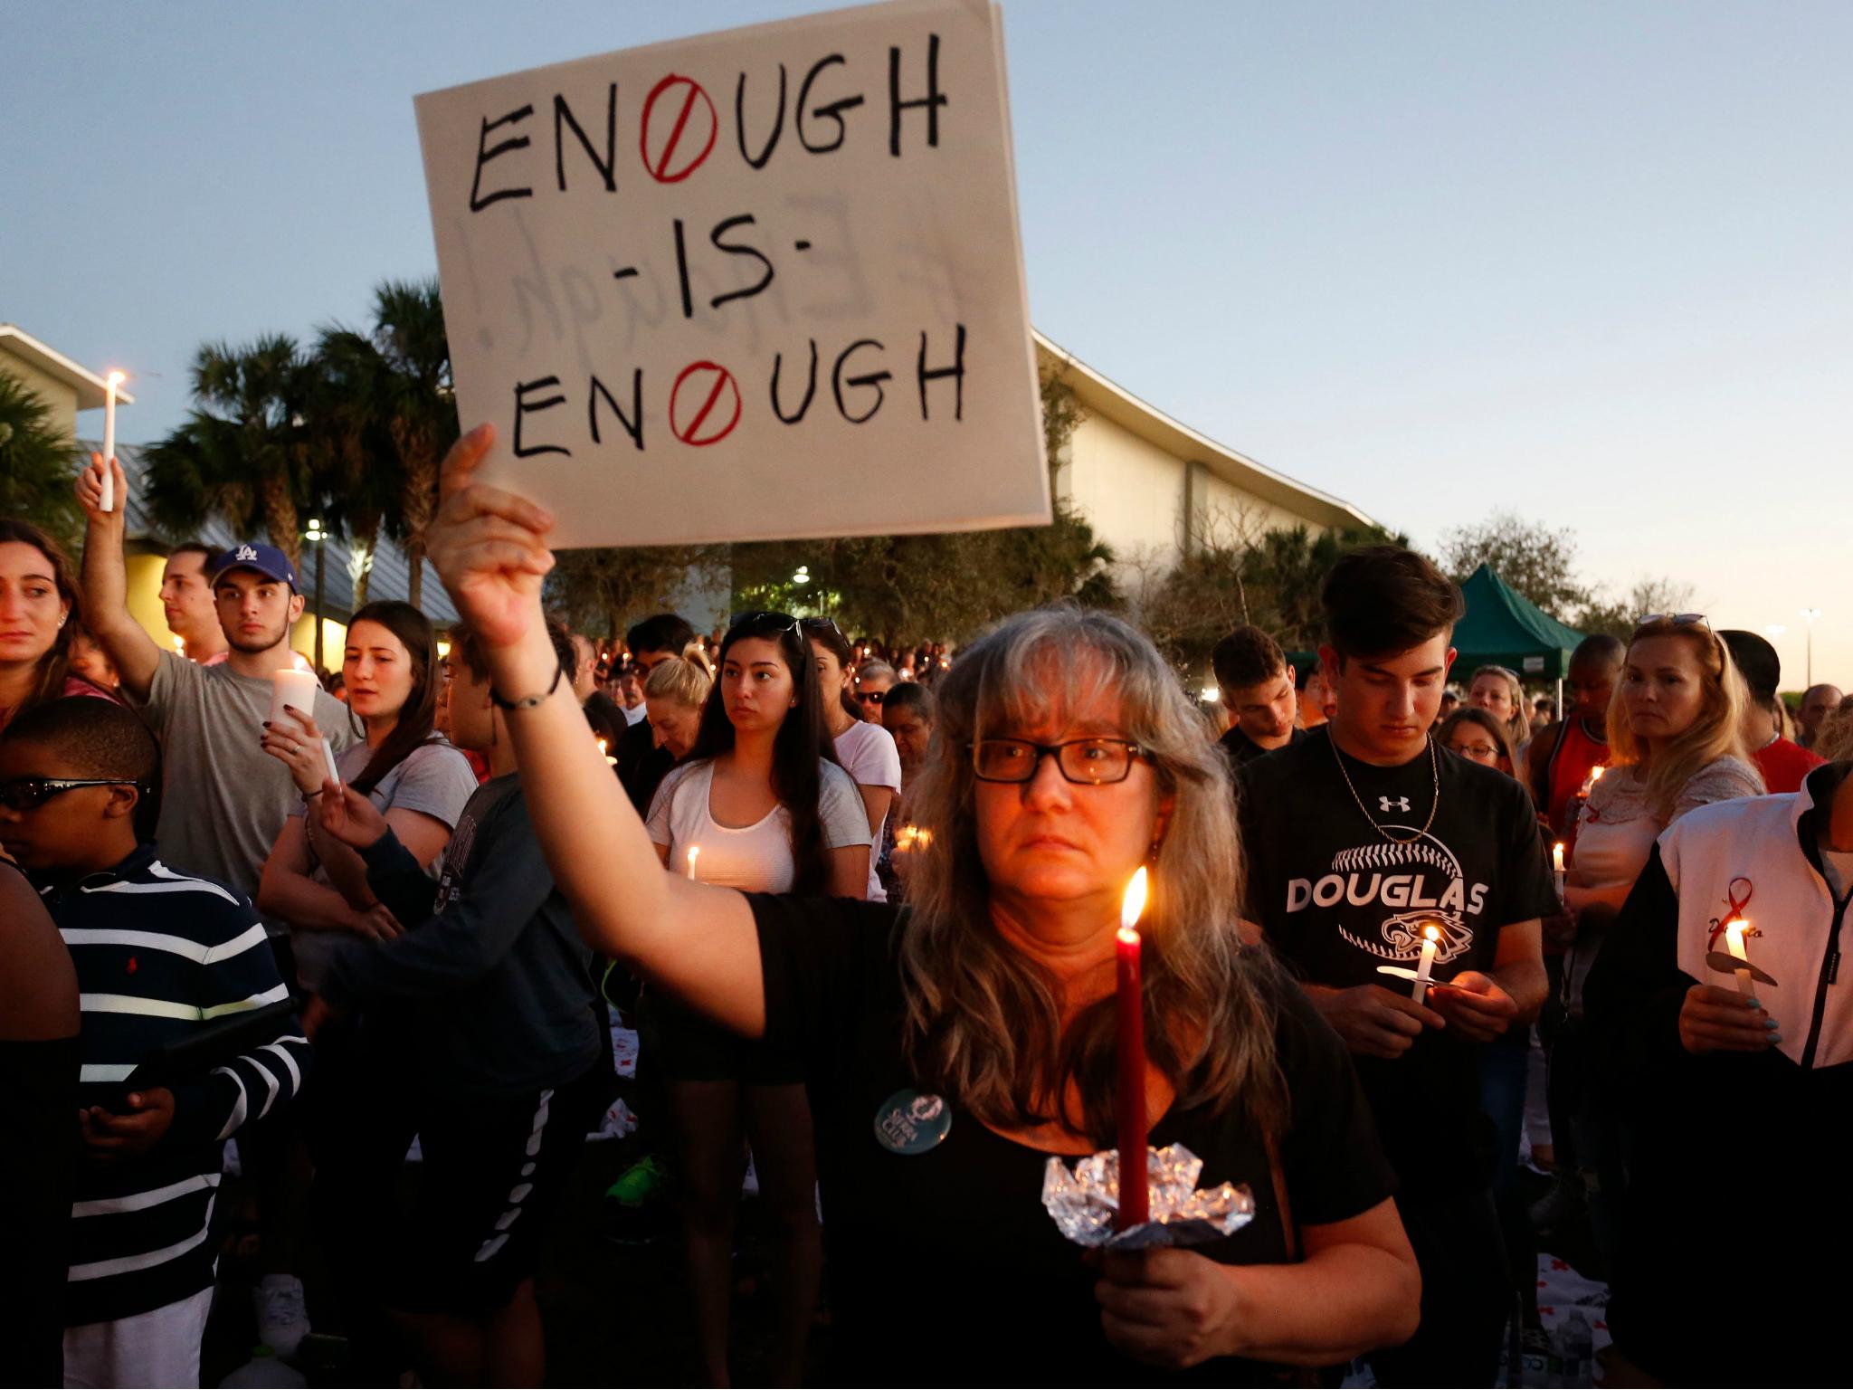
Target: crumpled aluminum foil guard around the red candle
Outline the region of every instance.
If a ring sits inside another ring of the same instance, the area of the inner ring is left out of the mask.
[[[1201,1245],[1232,1236],[1254,1219],[1254,1195],[1243,1182],[1223,1182],[1197,1192],[1203,1160],[1182,1144],[1145,1149],[1151,1175],[1151,1219],[1114,1231],[1119,1212],[1119,1151],[1104,1149],[1067,1164],[1051,1158],[1043,1169],[1043,1207],[1064,1236],[1077,1245],[1149,1249],[1153,1245]]]

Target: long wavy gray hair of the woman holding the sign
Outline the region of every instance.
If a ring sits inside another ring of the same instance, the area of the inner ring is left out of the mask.
[[[936,693],[939,717],[910,791],[930,832],[908,878],[901,936],[904,1051],[915,1079],[980,1121],[1060,1119],[1114,1142],[1114,999],[1062,1027],[1060,982],[997,932],[978,856],[975,739],[1065,723],[1106,699],[1173,799],[1151,860],[1145,938],[1147,1056],[1179,1105],[1242,1101],[1266,1125],[1284,1114],[1275,1064],[1279,967],[1243,943],[1242,845],[1221,751],[1151,641],[1073,604],[1008,617],[965,649]],[[1080,1114],[1065,1114],[1069,1086]]]

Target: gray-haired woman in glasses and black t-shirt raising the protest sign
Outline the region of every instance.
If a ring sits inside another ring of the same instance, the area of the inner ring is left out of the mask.
[[[652,877],[649,832],[552,689],[552,519],[471,480],[491,443],[482,426],[452,450],[432,554],[523,704],[536,830],[587,940],[802,1062],[838,1373],[1271,1381],[1264,1362],[1332,1366],[1414,1331],[1419,1275],[1351,1062],[1236,919],[1229,775],[1149,639],[1060,608],[960,654],[904,914]],[[1190,1147],[1199,1186],[1249,1184],[1258,1214],[1193,1249],[1095,1258],[1041,1188],[1051,1158],[1114,1147],[1114,938],[1145,864],[1153,1144]]]

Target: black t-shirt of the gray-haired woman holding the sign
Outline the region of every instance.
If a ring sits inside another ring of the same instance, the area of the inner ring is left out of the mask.
[[[1082,1247],[1041,1205],[1049,1155],[952,1110],[945,1140],[901,1155],[876,1140],[884,1101],[912,1088],[901,1055],[895,960],[901,908],[851,899],[754,895],[767,1038],[804,1058],[823,1179],[839,1366],[888,1384],[1262,1384],[1266,1368],[1216,1360],[1186,1375],[1106,1344]],[[1299,1225],[1358,1216],[1392,1194],[1343,1043],[1286,986],[1279,1064],[1292,1101],[1280,1138]],[[1240,1105],[1158,1119],[1153,1144],[1203,1158],[1199,1186],[1247,1182],[1256,1216],[1195,1249],[1223,1264],[1286,1257],[1260,1129]],[[1073,1164],[1069,1158],[1067,1162]]]

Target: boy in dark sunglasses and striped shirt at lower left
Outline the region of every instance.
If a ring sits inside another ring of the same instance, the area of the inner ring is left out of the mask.
[[[198,1384],[224,1140],[287,1105],[309,1066],[291,1021],[206,1075],[124,1095],[159,1047],[289,993],[250,903],[156,858],[158,782],[154,734],[119,704],[52,701],[0,736],[0,843],[82,1001],[67,1384]]]

